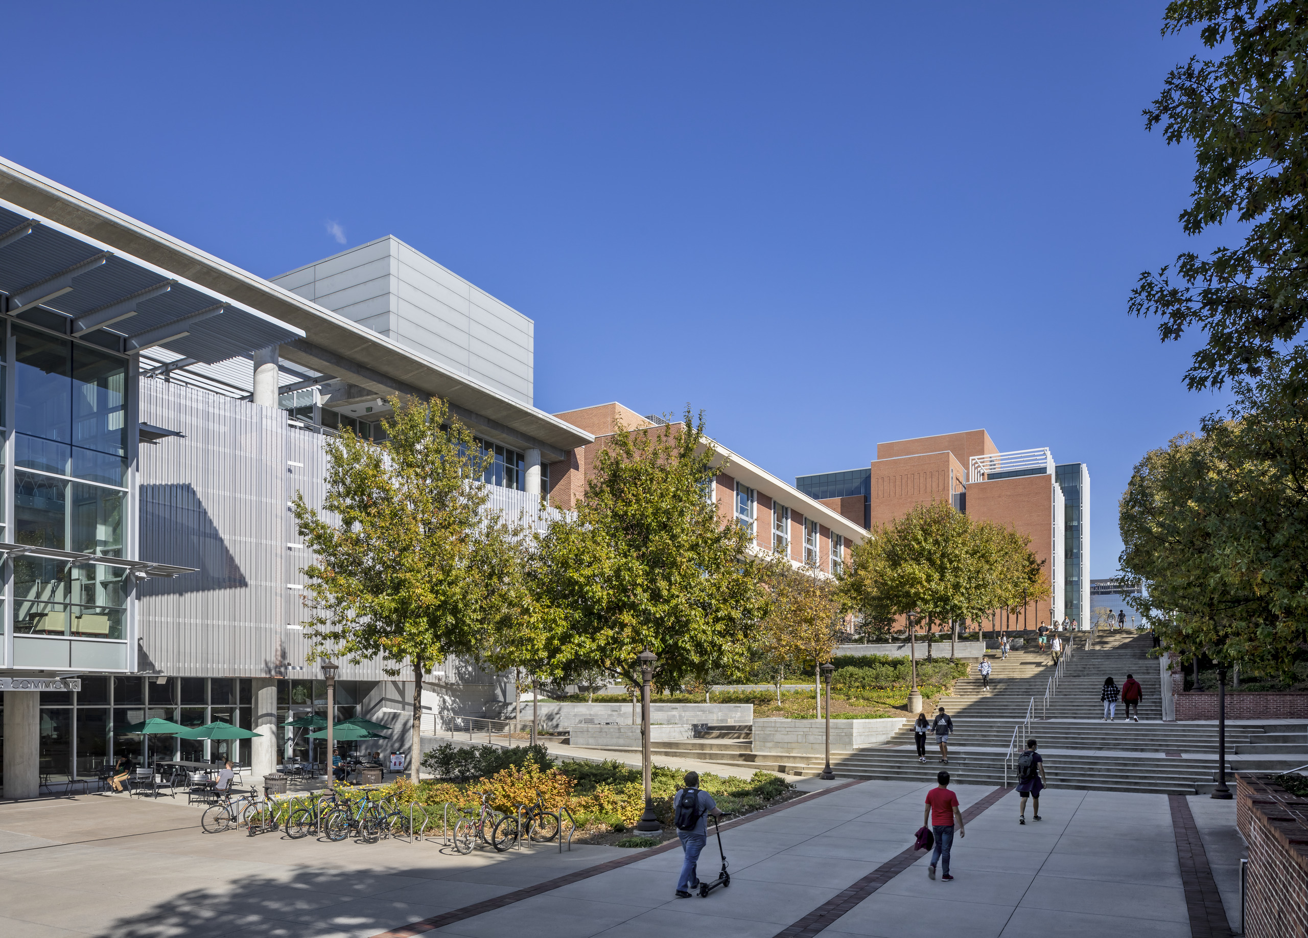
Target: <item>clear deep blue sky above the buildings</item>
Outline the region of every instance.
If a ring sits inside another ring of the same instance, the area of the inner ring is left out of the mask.
[[[266,276],[395,234],[535,319],[536,406],[691,402],[786,479],[1049,446],[1103,577],[1226,403],[1126,314],[1193,243],[1163,5],[9,4],[0,153]]]

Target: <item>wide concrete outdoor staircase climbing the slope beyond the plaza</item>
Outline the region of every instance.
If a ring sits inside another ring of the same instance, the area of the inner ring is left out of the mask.
[[[1036,722],[1031,735],[1040,740],[1045,773],[1052,786],[1197,794],[1211,791],[1216,781],[1218,730],[1215,723],[1162,722],[1159,669],[1147,653],[1147,636],[1107,634],[1084,642],[1075,636],[1076,649],[1065,666],[1054,697],[1044,717],[1044,696],[1053,663],[1035,642],[1010,651],[1001,661],[989,655],[993,671],[990,687],[972,675],[955,683],[954,695],[942,703],[954,718],[950,738],[950,773],[957,782],[1001,785],[1005,782],[1005,756],[1014,727],[1025,717],[1036,697]],[[1121,686],[1127,674],[1142,684],[1144,700],[1141,721],[1103,722],[1099,695],[1104,678]],[[698,739],[655,743],[655,759],[695,757],[701,761],[752,763],[759,768],[786,774],[812,776],[821,771],[820,756],[769,755],[753,752],[751,727],[717,726]],[[1228,723],[1227,756],[1230,769],[1284,771],[1308,763],[1308,725]],[[929,738],[927,761],[917,760],[913,730],[905,726],[887,744],[855,752],[833,752],[832,768],[842,778],[893,778],[930,782],[942,768],[934,738]],[[1007,782],[1016,780],[1010,773]]]

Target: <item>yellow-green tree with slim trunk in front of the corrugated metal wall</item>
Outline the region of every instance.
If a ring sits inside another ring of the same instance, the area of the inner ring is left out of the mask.
[[[412,675],[416,782],[422,678],[450,655],[476,655],[519,607],[522,532],[485,512],[485,458],[443,400],[390,404],[386,442],[328,441],[322,510],[297,493],[293,512],[314,555],[302,570],[311,658],[379,657],[387,674]]]

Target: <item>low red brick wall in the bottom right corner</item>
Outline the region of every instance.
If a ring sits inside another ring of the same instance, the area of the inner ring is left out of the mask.
[[[1304,938],[1308,935],[1308,823],[1301,818],[1308,812],[1308,799],[1245,774],[1236,777],[1235,797],[1236,827],[1249,846],[1244,934]]]

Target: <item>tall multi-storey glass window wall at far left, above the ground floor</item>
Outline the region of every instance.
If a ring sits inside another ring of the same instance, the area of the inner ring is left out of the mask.
[[[123,556],[127,496],[127,360],[13,324],[13,540]],[[124,569],[20,556],[18,634],[126,636]]]

